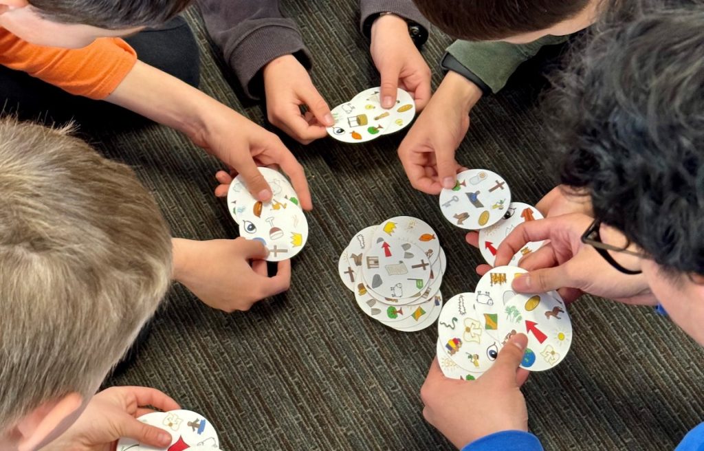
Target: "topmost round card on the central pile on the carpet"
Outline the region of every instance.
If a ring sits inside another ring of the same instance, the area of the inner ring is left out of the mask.
[[[367,286],[384,298],[405,298],[422,293],[430,280],[431,265],[413,243],[398,239],[375,239],[362,262]]]

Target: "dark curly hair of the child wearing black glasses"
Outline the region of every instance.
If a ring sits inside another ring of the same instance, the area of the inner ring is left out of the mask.
[[[704,4],[612,15],[546,99],[562,184],[659,265],[704,274]]]

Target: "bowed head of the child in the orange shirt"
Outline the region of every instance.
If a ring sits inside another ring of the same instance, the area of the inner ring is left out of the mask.
[[[33,44],[76,49],[161,25],[191,0],[0,0],[0,26]]]

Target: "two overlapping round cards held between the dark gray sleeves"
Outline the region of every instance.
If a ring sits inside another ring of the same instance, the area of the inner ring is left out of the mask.
[[[388,110],[382,108],[380,92],[378,87],[367,89],[333,108],[335,125],[327,128],[327,134],[345,143],[365,143],[396,133],[413,121],[415,101],[408,92],[399,88],[396,105]]]

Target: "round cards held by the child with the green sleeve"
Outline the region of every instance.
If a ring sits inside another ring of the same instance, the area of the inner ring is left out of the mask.
[[[500,175],[485,169],[457,174],[455,187],[440,193],[440,210],[456,226],[479,231],[479,250],[492,266],[496,250],[515,227],[523,222],[543,219],[535,207],[522,202],[512,203],[508,183]],[[517,265],[523,255],[542,245],[543,241],[528,243],[517,251],[510,265]]]

